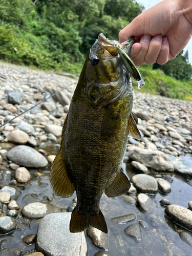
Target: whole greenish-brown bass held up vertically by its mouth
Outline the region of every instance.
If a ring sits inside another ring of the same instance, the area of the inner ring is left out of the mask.
[[[58,198],[71,197],[76,191],[72,233],[89,226],[107,233],[99,207],[102,194],[117,197],[131,186],[121,166],[128,135],[141,137],[132,113],[130,74],[114,44],[129,54],[133,43],[134,38],[120,44],[101,33],[88,52],[71,99],[50,184]]]

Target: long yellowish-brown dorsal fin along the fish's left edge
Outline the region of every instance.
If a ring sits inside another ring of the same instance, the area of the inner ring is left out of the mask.
[[[68,198],[71,197],[75,191],[75,186],[68,177],[65,159],[62,154],[63,150],[63,139],[65,135],[67,124],[67,118],[62,128],[61,136],[61,146],[60,150],[57,153],[50,172],[50,184],[53,190],[53,193],[56,197]]]

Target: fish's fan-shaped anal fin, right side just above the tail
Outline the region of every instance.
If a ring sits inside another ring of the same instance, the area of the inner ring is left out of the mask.
[[[104,193],[108,197],[118,197],[126,193],[130,189],[130,187],[131,184],[121,169],[115,181],[104,190]]]

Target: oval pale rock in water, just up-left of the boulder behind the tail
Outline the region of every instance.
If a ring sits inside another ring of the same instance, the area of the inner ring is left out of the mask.
[[[22,209],[22,215],[28,219],[40,219],[53,212],[53,207],[50,204],[30,203]]]

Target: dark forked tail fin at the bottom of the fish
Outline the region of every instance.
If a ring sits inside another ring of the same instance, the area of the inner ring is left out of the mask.
[[[104,233],[108,232],[108,228],[106,227],[106,222],[104,220],[104,216],[101,210],[99,211],[99,214],[93,214],[88,216],[85,214],[81,214],[75,206],[71,214],[70,232],[81,232],[89,226],[95,227]]]

